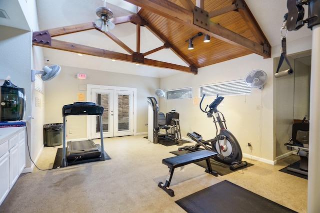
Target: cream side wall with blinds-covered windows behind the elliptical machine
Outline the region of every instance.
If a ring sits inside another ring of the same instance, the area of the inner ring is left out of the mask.
[[[247,73],[255,69],[261,69],[268,75],[263,90],[252,88],[251,95],[224,96],[223,106],[218,107],[218,110],[224,114],[227,128],[237,138],[243,153],[251,154],[265,161],[273,161],[272,59],[263,59],[256,54],[250,54],[200,68],[197,75],[181,73],[163,78],[160,88],[170,90],[191,86],[193,97],[200,101],[200,97],[198,97],[198,87],[200,85],[244,79]],[[205,97],[203,100],[204,106],[210,104],[214,98]],[[256,110],[256,106],[260,106],[260,110]],[[160,99],[160,111],[168,112],[171,109],[180,113],[182,137],[186,138],[186,133],[191,131],[202,135],[204,140],[215,137],[215,127],[212,119],[207,118],[200,111],[198,103],[193,104],[193,99]],[[247,147],[248,142],[252,144],[250,149]]]

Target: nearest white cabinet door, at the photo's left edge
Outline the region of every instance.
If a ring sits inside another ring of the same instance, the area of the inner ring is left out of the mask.
[[[0,205],[10,190],[9,152],[0,157]]]

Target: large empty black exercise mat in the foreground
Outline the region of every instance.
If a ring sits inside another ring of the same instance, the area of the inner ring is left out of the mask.
[[[295,213],[228,181],[219,182],[175,203],[187,213]]]

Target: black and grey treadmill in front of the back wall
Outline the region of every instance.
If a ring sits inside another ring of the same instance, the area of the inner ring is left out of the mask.
[[[93,161],[104,161],[102,113],[103,107],[93,102],[74,102],[62,107],[63,117],[63,141],[62,141],[62,162],[61,167]],[[66,116],[68,115],[98,115],[100,119],[100,140],[101,147],[89,139],[85,141],[68,141],[65,146]]]

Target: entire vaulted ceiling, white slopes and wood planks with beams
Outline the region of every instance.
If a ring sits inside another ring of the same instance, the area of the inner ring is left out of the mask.
[[[287,12],[287,0],[105,0],[116,23],[105,34],[93,24],[95,9],[104,0],[35,0],[38,28],[27,22],[25,14],[33,1],[0,0],[0,11],[8,16],[0,15],[0,25],[47,29],[51,45],[33,42],[45,46],[41,50],[46,65],[158,78],[180,71],[195,74],[203,66],[250,53],[269,57],[268,47],[274,50],[281,43],[280,27]],[[194,15],[194,8],[208,14],[208,22],[201,13]],[[207,26],[193,24],[193,20]],[[211,41],[203,43],[203,35],[195,37],[194,49],[187,50],[185,41],[199,32],[209,34]],[[311,34],[302,27],[289,31],[286,41],[297,43]],[[134,60],[140,65],[135,66]]]

